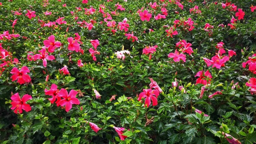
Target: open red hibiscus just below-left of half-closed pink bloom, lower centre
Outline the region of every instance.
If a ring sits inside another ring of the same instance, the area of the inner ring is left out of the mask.
[[[155,96],[153,96],[155,95]],[[146,98],[145,99],[145,106],[149,107],[149,105],[151,104],[151,100],[153,102],[153,106],[157,105],[157,97],[159,95],[159,91],[157,90],[152,90],[152,89],[143,89],[143,92],[140,93],[139,97],[138,97],[138,101],[141,100],[141,98]]]

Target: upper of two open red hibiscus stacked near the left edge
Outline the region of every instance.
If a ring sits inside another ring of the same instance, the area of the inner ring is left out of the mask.
[[[21,71],[18,70],[18,68],[14,67],[12,68],[12,71],[10,72],[12,75],[12,77],[10,77],[12,79],[12,81],[15,81],[18,79],[18,83],[21,85],[21,84],[24,84],[25,82],[30,82],[31,79],[30,79],[30,76],[27,74],[29,73],[30,71],[28,70],[28,67],[24,66],[21,68]]]

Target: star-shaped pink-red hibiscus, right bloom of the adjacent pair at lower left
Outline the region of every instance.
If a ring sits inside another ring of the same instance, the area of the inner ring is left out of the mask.
[[[80,104],[80,101],[76,98],[77,91],[71,90],[68,94],[66,89],[61,89],[59,92],[59,96],[62,97],[60,102],[58,102],[57,106],[64,106],[65,110],[68,112],[72,108],[72,104]]]

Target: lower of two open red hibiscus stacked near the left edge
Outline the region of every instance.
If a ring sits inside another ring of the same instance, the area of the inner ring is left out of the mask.
[[[29,104],[26,104],[26,102],[30,99],[32,99],[31,95],[25,94],[24,96],[22,96],[22,98],[19,96],[19,93],[16,93],[14,95],[12,95],[11,97],[12,102],[10,104],[12,104],[11,109],[14,110],[14,113],[22,113],[22,110],[25,111],[31,111],[31,107]]]

